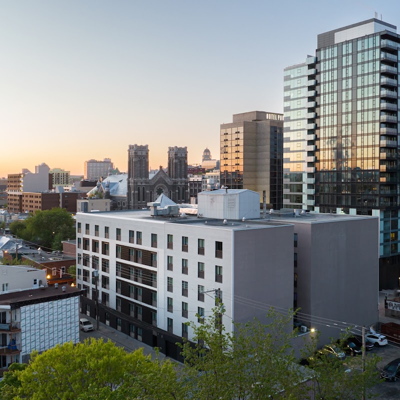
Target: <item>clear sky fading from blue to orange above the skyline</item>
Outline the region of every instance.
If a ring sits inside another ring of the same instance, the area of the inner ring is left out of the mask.
[[[134,143],[152,168],[174,145],[218,159],[221,123],[283,112],[283,68],[374,11],[400,25],[398,0],[0,0],[0,176],[126,171]]]

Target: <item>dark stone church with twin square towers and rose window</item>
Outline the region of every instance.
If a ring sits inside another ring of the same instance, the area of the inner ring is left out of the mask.
[[[187,147],[168,147],[167,172],[159,169],[148,173],[148,145],[129,144],[127,206],[129,209],[146,207],[160,194],[175,203],[189,201],[187,178]]]

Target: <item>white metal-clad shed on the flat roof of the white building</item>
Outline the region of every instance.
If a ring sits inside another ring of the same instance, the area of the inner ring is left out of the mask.
[[[259,193],[248,189],[217,189],[197,194],[197,215],[216,219],[259,218]]]

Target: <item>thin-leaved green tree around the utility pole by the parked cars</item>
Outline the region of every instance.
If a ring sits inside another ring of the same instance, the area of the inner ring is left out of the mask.
[[[315,398],[320,400],[353,400],[362,398],[363,392],[379,382],[376,355],[368,355],[363,365],[362,357],[345,358],[345,361],[324,351],[316,351],[318,336],[312,337],[304,346],[303,356],[307,357],[308,368],[312,369],[315,381]],[[332,346],[345,348],[345,339],[349,331],[344,332],[338,341],[332,340]],[[311,355],[311,356],[310,356]],[[368,397],[365,397],[368,398]]]

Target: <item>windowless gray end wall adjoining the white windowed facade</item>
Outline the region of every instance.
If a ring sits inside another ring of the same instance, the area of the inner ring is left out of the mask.
[[[293,226],[234,231],[233,243],[233,319],[245,322],[255,316],[265,322],[267,306],[260,303],[292,307]],[[246,305],[241,297],[260,303]]]

